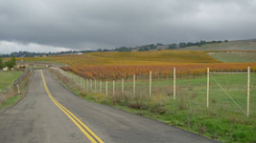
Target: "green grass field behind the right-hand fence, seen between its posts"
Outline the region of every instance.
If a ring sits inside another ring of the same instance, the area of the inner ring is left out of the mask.
[[[252,73],[250,85],[251,94],[251,118],[256,120],[256,73]],[[246,89],[247,89],[246,74],[218,74],[210,76],[210,109],[213,111],[220,110],[221,112],[229,112],[244,115],[246,113]],[[78,81],[79,83],[79,81]],[[221,88],[218,84],[221,85]],[[85,83],[86,84],[86,83]],[[100,81],[92,81],[89,83],[91,92],[100,92]],[[115,94],[116,96],[122,95],[121,80],[115,81]],[[152,96],[164,96],[173,99],[174,94],[174,80],[173,78],[155,78],[152,80]],[[86,85],[85,85],[86,87]],[[149,79],[145,77],[136,78],[136,96],[142,98],[149,97]],[[113,95],[113,83],[108,81],[108,95]],[[102,92],[105,92],[105,82],[102,83]],[[230,97],[225,94],[230,95]],[[133,82],[132,78],[125,80],[124,93],[127,97],[133,96]],[[232,101],[232,99],[234,101]],[[188,111],[200,111],[206,108],[206,76],[196,78],[177,78],[176,79],[176,101],[184,102],[183,107]],[[122,102],[122,101],[121,101]],[[236,102],[239,107],[236,105]],[[172,104],[172,102],[170,102]],[[240,109],[241,108],[241,109]],[[174,109],[176,110],[176,109]],[[242,110],[242,111],[241,111]],[[224,114],[225,114],[224,113]],[[244,115],[245,116],[245,115]],[[256,123],[256,122],[255,122]]]

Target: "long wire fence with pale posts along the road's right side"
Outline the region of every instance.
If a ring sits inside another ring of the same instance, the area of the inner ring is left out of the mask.
[[[114,98],[151,98],[164,96],[169,109],[185,110],[192,114],[202,112],[239,115],[256,118],[256,73],[209,72],[192,77],[132,76],[118,80],[87,79],[72,72],[55,68],[89,92],[101,92]],[[175,70],[174,70],[175,71]],[[207,82],[209,81],[209,82]],[[207,84],[209,83],[209,84]],[[208,92],[208,93],[207,93]]]

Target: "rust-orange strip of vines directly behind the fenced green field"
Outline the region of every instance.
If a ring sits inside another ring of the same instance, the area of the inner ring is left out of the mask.
[[[256,72],[256,63],[250,64],[172,64],[172,65],[146,65],[146,66],[71,66],[61,69],[74,72],[82,77],[95,79],[120,79],[133,75],[152,77],[172,77],[174,68],[177,76],[200,76],[206,74],[206,68],[211,72],[245,72],[247,67],[252,67],[251,72]]]

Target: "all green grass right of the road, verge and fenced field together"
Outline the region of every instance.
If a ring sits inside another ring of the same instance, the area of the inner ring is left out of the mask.
[[[108,96],[98,92],[85,92],[71,88],[86,100],[106,104],[150,117],[187,131],[198,133],[221,142],[256,142],[256,73],[251,74],[250,117],[246,111],[246,74],[220,74],[210,76],[209,108],[206,108],[206,77],[176,78],[176,99],[173,99],[173,79],[153,79],[152,97],[149,97],[147,79],[138,78],[136,97],[132,94],[132,80],[116,81],[115,95],[112,82],[108,82]],[[230,94],[243,112],[215,83]],[[86,83],[86,82],[85,82]],[[94,82],[93,82],[94,86]],[[86,85],[85,85],[86,87]],[[105,92],[105,82],[103,82]]]

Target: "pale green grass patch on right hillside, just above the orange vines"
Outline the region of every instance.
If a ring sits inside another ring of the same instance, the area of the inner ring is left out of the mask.
[[[226,51],[226,52],[210,52],[213,58],[225,63],[255,63],[256,52],[244,51]]]

